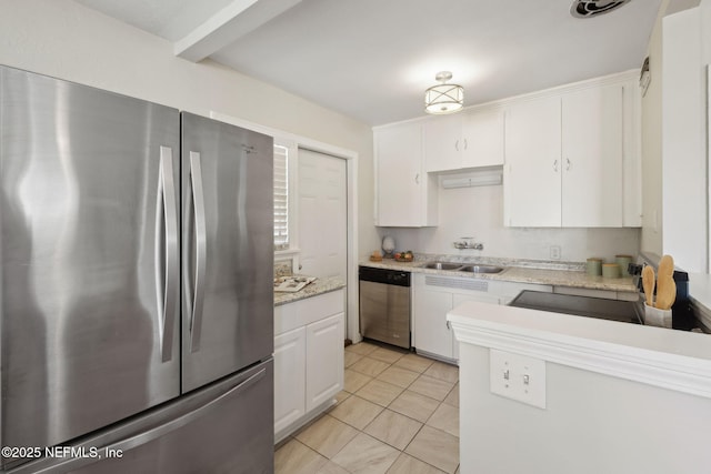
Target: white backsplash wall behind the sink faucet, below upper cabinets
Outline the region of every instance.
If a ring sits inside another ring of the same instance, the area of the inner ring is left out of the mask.
[[[637,254],[639,229],[513,229],[503,226],[503,186],[440,189],[437,228],[381,228],[399,250],[467,256],[550,260],[550,246],[560,245],[561,261],[583,262],[590,256],[614,260]],[[457,250],[452,243],[473,236],[483,251]]]

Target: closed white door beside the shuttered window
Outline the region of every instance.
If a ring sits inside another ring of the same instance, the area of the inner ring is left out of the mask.
[[[347,281],[346,160],[299,150],[299,273]]]

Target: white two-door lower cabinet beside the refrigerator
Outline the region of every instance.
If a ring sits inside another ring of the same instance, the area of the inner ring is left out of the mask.
[[[343,389],[343,290],[274,307],[274,442]]]

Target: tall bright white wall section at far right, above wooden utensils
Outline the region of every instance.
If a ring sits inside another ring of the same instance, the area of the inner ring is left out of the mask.
[[[711,27],[711,26],[707,26]],[[663,253],[708,271],[707,98],[701,8],[663,19]]]

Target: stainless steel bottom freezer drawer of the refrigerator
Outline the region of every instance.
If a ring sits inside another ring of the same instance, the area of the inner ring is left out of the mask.
[[[273,360],[7,474],[274,472]]]

